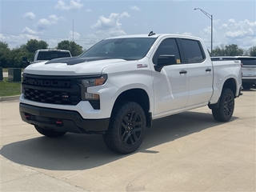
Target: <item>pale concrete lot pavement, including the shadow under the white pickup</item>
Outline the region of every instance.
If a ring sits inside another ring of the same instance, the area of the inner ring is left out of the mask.
[[[142,146],[114,154],[101,135],[46,138],[0,102],[1,191],[255,191],[256,90],[230,122],[208,107],[154,121]]]

